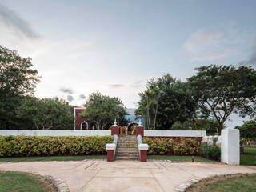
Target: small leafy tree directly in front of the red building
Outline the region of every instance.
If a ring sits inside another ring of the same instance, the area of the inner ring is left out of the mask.
[[[90,94],[84,105],[86,110],[79,114],[86,121],[94,123],[97,130],[104,130],[106,126],[112,124],[114,119],[121,121],[126,110],[118,98],[110,98],[100,93]]]

